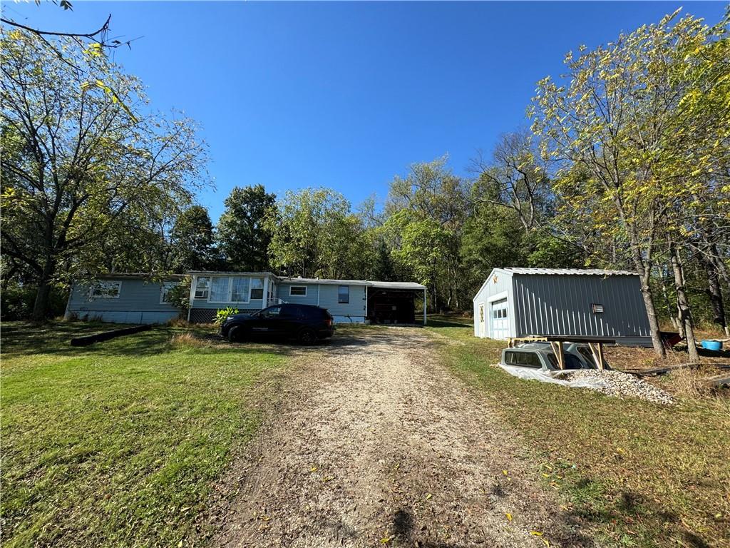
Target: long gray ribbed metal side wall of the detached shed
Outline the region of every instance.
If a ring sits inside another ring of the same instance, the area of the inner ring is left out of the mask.
[[[634,275],[517,275],[515,334],[645,338],[649,322]],[[593,313],[591,305],[604,305]]]

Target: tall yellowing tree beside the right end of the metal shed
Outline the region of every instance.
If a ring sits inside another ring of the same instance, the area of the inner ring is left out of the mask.
[[[595,50],[582,46],[575,57],[569,53],[567,74],[558,82],[541,80],[530,109],[543,155],[561,167],[556,191],[575,210],[587,213],[583,222],[593,224],[599,235],[626,246],[641,277],[660,355],[664,347],[650,278],[667,229],[672,231],[673,206],[688,197],[696,180],[675,173],[677,152],[696,145],[688,137],[693,131],[677,132],[675,122],[690,87],[685,45],[699,47],[708,34],[701,20],[676,19],[675,12],[610,45]],[[682,285],[680,278],[675,283]],[[691,339],[691,319],[685,319]]]

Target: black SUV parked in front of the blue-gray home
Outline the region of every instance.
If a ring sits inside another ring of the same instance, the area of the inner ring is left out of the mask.
[[[296,338],[302,344],[314,344],[334,334],[332,315],[314,305],[274,305],[253,314],[228,316],[220,326],[220,335],[231,342],[254,337]]]

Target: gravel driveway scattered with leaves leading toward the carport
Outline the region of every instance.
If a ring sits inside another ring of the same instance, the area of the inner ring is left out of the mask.
[[[592,546],[566,525],[519,441],[437,356],[415,328],[363,329],[301,351],[226,479],[236,495],[213,544]]]

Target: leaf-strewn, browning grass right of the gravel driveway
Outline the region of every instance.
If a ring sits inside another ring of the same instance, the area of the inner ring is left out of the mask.
[[[534,449],[548,489],[608,546],[730,546],[730,398],[658,406],[523,381],[489,367],[504,343],[429,320],[451,368]]]

